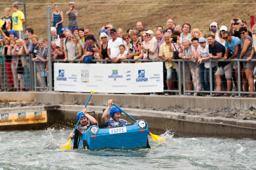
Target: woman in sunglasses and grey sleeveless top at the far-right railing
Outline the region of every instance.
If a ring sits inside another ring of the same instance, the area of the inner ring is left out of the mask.
[[[253,77],[252,77],[252,73],[255,67],[255,62],[254,61],[250,61],[251,59],[256,59],[256,55],[255,53],[253,55],[251,55],[251,51],[252,51],[252,38],[248,35],[248,31],[246,27],[240,27],[239,28],[239,34],[241,36],[241,54],[240,54],[240,59],[247,59],[249,58],[247,61],[248,62],[243,62],[243,68],[246,74],[246,78],[248,80],[248,84],[250,87],[250,91],[253,92],[254,91],[254,81],[253,81]],[[254,97],[254,94],[249,94],[246,95],[244,97]]]

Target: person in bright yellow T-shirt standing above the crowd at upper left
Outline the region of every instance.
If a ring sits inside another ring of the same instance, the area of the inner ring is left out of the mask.
[[[22,11],[18,10],[17,4],[12,4],[13,10],[13,30],[16,31],[17,38],[23,39],[23,23],[25,23],[25,17]]]

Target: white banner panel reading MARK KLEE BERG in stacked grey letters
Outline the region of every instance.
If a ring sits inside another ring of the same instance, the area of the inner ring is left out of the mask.
[[[106,92],[105,64],[79,64],[80,92]]]

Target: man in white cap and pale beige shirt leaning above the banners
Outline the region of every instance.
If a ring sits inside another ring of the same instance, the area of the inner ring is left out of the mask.
[[[148,43],[147,45],[142,45],[141,49],[143,53],[148,54],[149,59],[157,59],[159,57],[158,43],[154,40],[154,32],[152,30],[147,30],[146,32]]]

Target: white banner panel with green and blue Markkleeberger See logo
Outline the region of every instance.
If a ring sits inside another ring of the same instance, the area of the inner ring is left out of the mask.
[[[133,93],[133,64],[106,64],[106,93]]]

